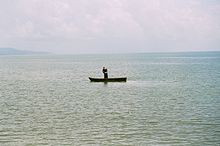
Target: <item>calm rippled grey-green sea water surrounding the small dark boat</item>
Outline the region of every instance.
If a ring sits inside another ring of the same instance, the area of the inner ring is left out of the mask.
[[[220,145],[220,52],[0,56],[0,145]]]

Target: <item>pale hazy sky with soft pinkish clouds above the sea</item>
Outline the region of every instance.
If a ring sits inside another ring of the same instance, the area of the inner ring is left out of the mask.
[[[0,47],[220,51],[220,0],[0,0]]]

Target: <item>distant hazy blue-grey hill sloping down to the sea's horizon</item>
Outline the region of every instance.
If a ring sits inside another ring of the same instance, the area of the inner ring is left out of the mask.
[[[34,54],[49,54],[49,53],[18,50],[14,48],[0,48],[0,55],[34,55]]]

